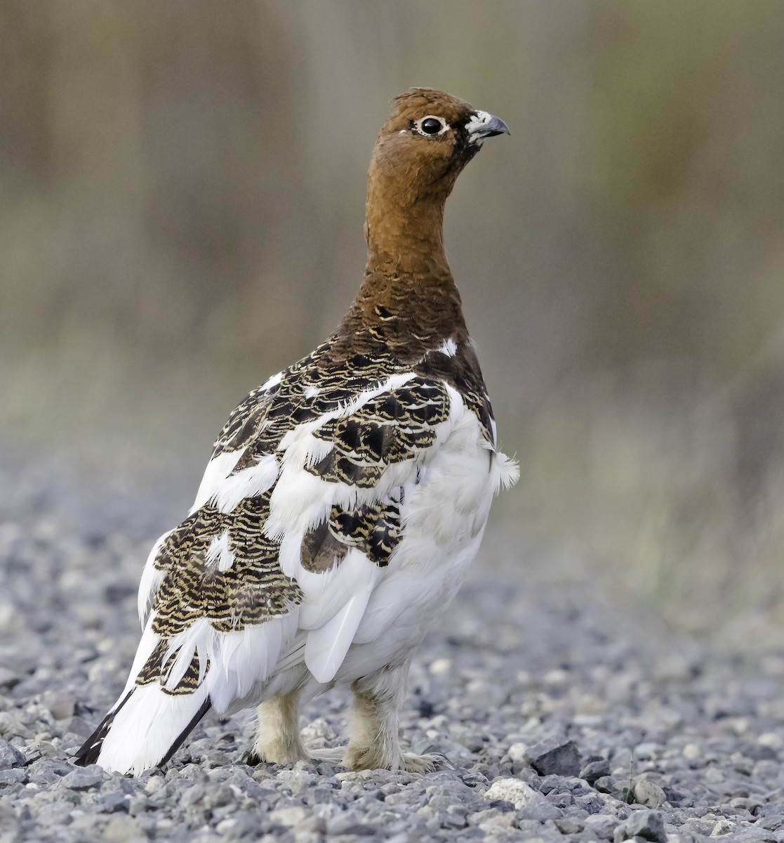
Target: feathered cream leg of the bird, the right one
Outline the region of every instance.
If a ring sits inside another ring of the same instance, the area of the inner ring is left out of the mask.
[[[424,773],[443,756],[404,753],[397,736],[397,715],[406,694],[410,659],[357,679],[354,711],[349,722],[349,747],[344,764],[352,770],[406,770]]]

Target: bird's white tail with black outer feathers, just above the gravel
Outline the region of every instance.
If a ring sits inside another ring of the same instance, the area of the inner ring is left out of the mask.
[[[157,683],[133,685],[78,750],[75,763],[138,776],[166,764],[210,707],[205,684],[191,694],[167,693]]]

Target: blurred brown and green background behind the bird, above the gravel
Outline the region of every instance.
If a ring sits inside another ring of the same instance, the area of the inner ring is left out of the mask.
[[[232,407],[348,307],[413,85],[512,130],[446,220],[522,470],[486,563],[776,630],[779,0],[3,0],[3,450],[174,473],[187,507]]]

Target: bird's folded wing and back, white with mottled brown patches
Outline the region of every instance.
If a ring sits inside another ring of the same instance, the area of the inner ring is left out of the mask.
[[[402,498],[448,435],[451,400],[412,371],[309,371],[275,376],[237,408],[189,517],[153,548],[124,694],[205,687],[222,711],[258,695],[281,657],[333,679],[399,540]]]

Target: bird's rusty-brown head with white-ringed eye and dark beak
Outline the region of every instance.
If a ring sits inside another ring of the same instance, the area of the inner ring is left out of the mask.
[[[394,100],[371,159],[371,180],[392,180],[405,201],[449,195],[486,137],[509,134],[504,121],[462,99],[413,88]]]

